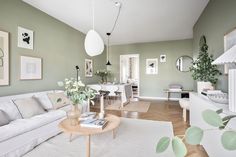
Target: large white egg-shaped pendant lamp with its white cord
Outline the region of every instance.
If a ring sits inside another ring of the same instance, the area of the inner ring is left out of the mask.
[[[84,41],[85,51],[91,57],[102,54],[104,50],[103,40],[94,29],[94,3],[94,0],[92,0],[93,28],[88,31]]]

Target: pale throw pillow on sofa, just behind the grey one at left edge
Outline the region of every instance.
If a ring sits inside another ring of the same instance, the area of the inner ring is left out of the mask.
[[[11,121],[22,118],[19,110],[12,100],[0,101],[0,109],[8,115]]]

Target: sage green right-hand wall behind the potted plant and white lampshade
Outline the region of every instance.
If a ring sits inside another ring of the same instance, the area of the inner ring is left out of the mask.
[[[206,36],[209,53],[213,54],[214,58],[217,58],[223,53],[224,34],[236,27],[235,6],[235,0],[210,0],[193,29],[194,58],[198,55],[198,43],[201,35]],[[219,69],[223,71],[223,66],[219,66]],[[228,90],[227,76],[223,75],[219,77],[217,88],[223,91]]]

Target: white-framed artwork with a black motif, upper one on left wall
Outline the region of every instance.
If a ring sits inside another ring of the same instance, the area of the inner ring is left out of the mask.
[[[18,47],[33,50],[34,32],[32,30],[18,27]]]

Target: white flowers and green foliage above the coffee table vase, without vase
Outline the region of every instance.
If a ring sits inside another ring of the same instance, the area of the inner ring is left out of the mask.
[[[82,104],[84,101],[95,98],[95,91],[86,87],[81,80],[66,78],[64,82],[58,82],[58,85],[65,88],[65,93],[73,105]],[[94,104],[93,101],[91,102]]]

